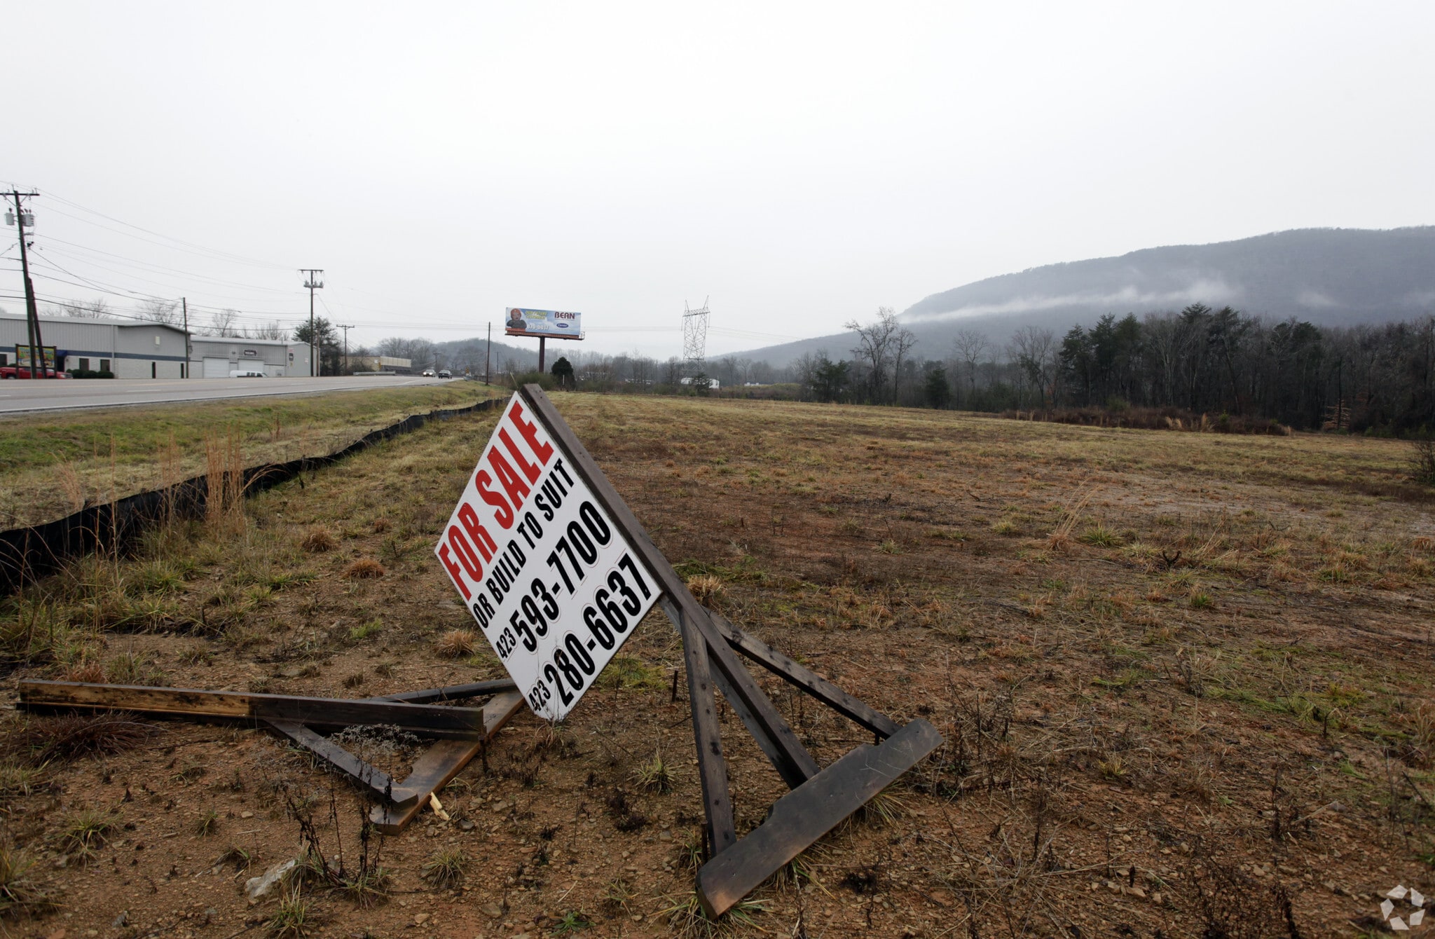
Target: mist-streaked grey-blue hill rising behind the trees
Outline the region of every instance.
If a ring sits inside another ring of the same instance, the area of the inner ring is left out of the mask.
[[[1104,313],[1180,310],[1201,302],[1322,324],[1435,312],[1435,225],[1369,231],[1300,228],[1217,244],[1144,248],[1121,257],[1032,267],[926,297],[900,314],[918,355],[946,355],[960,329],[1003,343],[1026,324],[1058,332]],[[851,333],[736,353],[781,366],[808,352],[845,356]]]

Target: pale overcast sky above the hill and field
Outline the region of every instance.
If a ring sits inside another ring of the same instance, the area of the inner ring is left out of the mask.
[[[1428,0],[47,0],[6,36],[42,297],[201,324],[294,324],[311,266],[352,343],[518,304],[666,358],[710,296],[713,355],[1052,261],[1435,223]]]

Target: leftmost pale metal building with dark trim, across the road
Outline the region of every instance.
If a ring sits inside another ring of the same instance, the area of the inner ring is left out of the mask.
[[[40,340],[55,346],[56,366],[113,372],[115,378],[188,378],[185,332],[166,323],[40,317]],[[23,313],[0,313],[0,365],[30,345]]]

